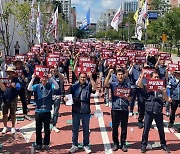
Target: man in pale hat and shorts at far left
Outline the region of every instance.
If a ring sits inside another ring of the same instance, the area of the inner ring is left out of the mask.
[[[10,116],[12,120],[12,128],[11,133],[16,133],[15,130],[15,122],[16,122],[16,107],[17,107],[17,88],[19,87],[18,79],[14,76],[15,71],[14,68],[8,67],[6,70],[8,80],[11,81],[10,85],[7,85],[4,93],[3,93],[3,123],[4,128],[2,130],[3,134],[6,134],[7,122],[8,122],[8,110],[10,109]]]

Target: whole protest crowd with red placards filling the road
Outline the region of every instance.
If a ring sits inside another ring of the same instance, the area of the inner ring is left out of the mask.
[[[68,102],[72,103],[72,147],[69,152],[78,150],[78,132],[82,123],[83,148],[86,153],[91,153],[90,98],[98,94],[104,98],[104,105],[111,107],[113,151],[128,151],[128,118],[133,116],[137,103],[137,123],[139,129],[143,129],[141,152],[146,153],[153,120],[158,128],[161,149],[170,152],[165,139],[163,112],[165,110],[169,117],[168,127],[171,128],[180,106],[180,61],[174,63],[170,53],[160,52],[157,48],[137,49],[126,42],[42,43],[32,46],[26,54],[6,56],[0,75],[2,134],[7,133],[8,127],[12,134],[16,133],[18,99],[24,118],[32,120],[28,105],[33,100],[36,103],[37,151],[50,150],[51,131],[60,132],[56,127],[60,105]],[[67,90],[65,83],[70,85]]]

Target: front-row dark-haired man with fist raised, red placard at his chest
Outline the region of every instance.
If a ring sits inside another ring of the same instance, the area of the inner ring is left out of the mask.
[[[123,152],[127,152],[126,147],[126,138],[127,138],[127,124],[128,124],[128,115],[129,115],[129,101],[131,100],[130,95],[128,97],[122,97],[117,95],[117,89],[131,88],[131,83],[128,78],[126,78],[126,73],[123,68],[116,70],[117,81],[111,82],[110,77],[112,76],[114,70],[110,69],[109,73],[105,79],[105,86],[111,88],[112,96],[112,138],[113,138],[113,151],[119,149],[119,140],[118,140],[118,128],[119,123],[121,122],[121,149]]]

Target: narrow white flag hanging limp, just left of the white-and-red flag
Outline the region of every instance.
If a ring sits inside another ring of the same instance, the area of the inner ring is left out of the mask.
[[[36,23],[36,37],[38,40],[38,44],[41,44],[41,11],[40,11],[40,3],[38,3],[38,15],[37,15],[37,23]]]

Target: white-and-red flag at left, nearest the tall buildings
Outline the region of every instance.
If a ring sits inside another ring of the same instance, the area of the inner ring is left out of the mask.
[[[48,38],[50,34],[53,34],[56,40],[58,39],[58,7],[56,11],[54,12],[52,18],[48,22],[48,26],[47,26]]]

